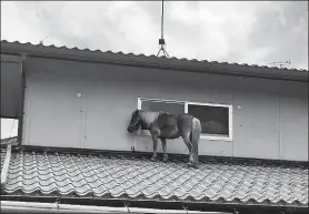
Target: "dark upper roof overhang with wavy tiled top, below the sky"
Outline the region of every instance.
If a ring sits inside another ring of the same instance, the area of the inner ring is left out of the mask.
[[[251,74],[259,74],[260,77],[269,75],[269,78],[286,78],[290,79],[292,75],[293,79],[305,80],[308,82],[308,70],[298,70],[298,69],[288,69],[288,68],[278,68],[278,67],[267,67],[267,65],[257,65],[257,64],[239,64],[239,63],[228,63],[228,62],[218,62],[218,61],[207,61],[207,60],[197,60],[197,59],[178,59],[178,58],[166,58],[156,55],[144,55],[144,54],[133,54],[133,53],[123,53],[123,52],[112,52],[112,51],[101,51],[101,50],[90,50],[90,49],[79,49],[79,48],[68,48],[66,45],[56,47],[51,45],[43,45],[43,44],[32,44],[30,42],[20,43],[18,41],[9,42],[7,40],[1,40],[1,50],[9,51],[10,48],[6,48],[4,45],[18,45],[18,47],[33,47],[33,50],[38,51],[39,53],[43,53],[43,50],[57,50],[53,53],[53,57],[61,55],[61,53],[66,52],[66,55],[74,57],[74,58],[84,58],[84,54],[89,54],[87,58],[93,58],[93,60],[98,60],[97,58],[106,58],[107,62],[113,61],[122,61],[126,63],[134,62],[134,63],[148,63],[148,64],[160,64],[167,65],[175,69],[183,68],[185,70],[207,70],[207,72],[215,72],[215,73],[230,73],[230,74],[238,74],[238,75],[251,75]],[[4,47],[4,48],[3,48]],[[8,49],[8,50],[6,50]],[[33,51],[31,50],[31,51]],[[68,51],[71,51],[68,53]],[[9,51],[10,52],[10,51]],[[83,53],[83,54],[81,54]],[[56,54],[56,55],[54,55]],[[63,54],[64,55],[64,54]],[[63,57],[62,55],[62,57]],[[98,57],[100,55],[100,57]],[[262,71],[262,72],[261,72]],[[292,72],[290,72],[292,71]],[[288,72],[288,73],[287,73]]]

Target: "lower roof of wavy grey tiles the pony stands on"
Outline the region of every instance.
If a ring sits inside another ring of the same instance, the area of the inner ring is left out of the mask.
[[[308,206],[308,169],[12,151],[4,194]]]

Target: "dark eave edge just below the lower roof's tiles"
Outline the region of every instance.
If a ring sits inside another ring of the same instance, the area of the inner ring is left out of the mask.
[[[160,201],[160,200],[128,200],[128,198],[93,198],[93,197],[59,197],[59,196],[28,196],[28,195],[1,195],[1,201],[16,202],[41,202],[41,203],[61,203],[72,205],[92,205],[92,206],[113,206],[113,207],[140,207],[140,208],[167,208],[181,210],[186,207],[188,211],[202,212],[228,212],[235,213],[237,210],[247,213],[252,210],[263,211],[287,211],[293,210],[300,213],[307,213],[308,204],[263,204],[263,203],[232,203],[232,202],[182,202],[182,201]]]

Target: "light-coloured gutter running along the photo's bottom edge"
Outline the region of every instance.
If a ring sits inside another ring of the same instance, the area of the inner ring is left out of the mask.
[[[187,210],[157,210],[138,207],[86,206],[58,203],[33,203],[1,201],[1,213],[197,213],[197,214],[230,214],[222,212],[198,212]]]

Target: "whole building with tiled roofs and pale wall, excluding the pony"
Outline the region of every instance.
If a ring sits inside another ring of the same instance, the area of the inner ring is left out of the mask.
[[[200,169],[186,167],[181,139],[170,162],[150,162],[149,134],[127,132],[137,108],[197,115]],[[1,41],[1,116],[20,128],[6,203],[308,208],[307,70]]]

